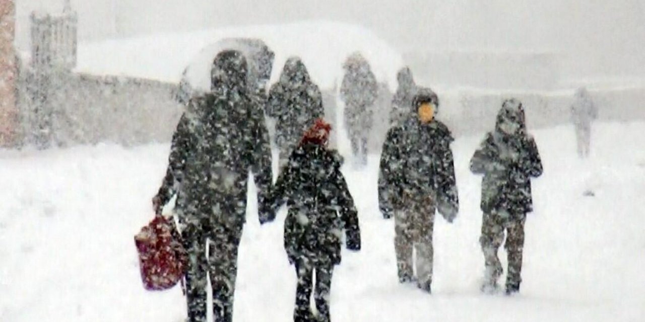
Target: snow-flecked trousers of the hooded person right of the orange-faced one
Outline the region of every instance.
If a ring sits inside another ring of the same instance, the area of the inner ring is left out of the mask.
[[[508,252],[508,274],[506,275],[506,291],[519,290],[522,278],[522,252],[524,251],[524,222],[526,214],[512,215],[508,212],[492,211],[484,213],[482,220],[482,234],[479,242],[484,252],[484,265],[486,267],[486,283],[497,285],[497,279],[502,275],[502,264],[497,257],[497,251],[504,241],[504,248]]]

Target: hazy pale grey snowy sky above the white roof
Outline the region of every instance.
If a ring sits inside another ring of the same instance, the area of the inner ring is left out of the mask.
[[[402,53],[549,52],[566,78],[645,75],[645,8],[639,0],[72,0],[81,41],[255,24],[332,20],[369,28]],[[17,44],[28,46],[31,10],[63,0],[18,0]]]

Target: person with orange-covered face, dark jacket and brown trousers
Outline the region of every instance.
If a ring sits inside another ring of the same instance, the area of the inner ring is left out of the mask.
[[[417,250],[419,288],[430,292],[435,209],[452,222],[459,211],[455,166],[448,128],[434,118],[437,95],[421,88],[409,108],[413,113],[388,131],[381,155],[379,207],[394,216],[399,281],[413,281],[412,250]]]

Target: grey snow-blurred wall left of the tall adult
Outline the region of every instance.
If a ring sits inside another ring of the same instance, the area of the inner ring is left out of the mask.
[[[166,142],[182,112],[174,84],[77,73],[47,78],[49,90],[37,90],[30,86],[32,71],[21,72],[20,134],[26,145]]]

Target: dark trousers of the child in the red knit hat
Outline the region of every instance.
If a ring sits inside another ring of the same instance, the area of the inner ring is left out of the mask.
[[[329,298],[332,288],[333,265],[324,267],[313,267],[306,258],[295,262],[295,272],[298,277],[298,285],[295,290],[295,309],[293,310],[294,322],[329,322]],[[315,285],[313,274],[315,272]],[[315,288],[315,289],[314,289]],[[315,319],[312,313],[311,297],[315,299],[318,318]]]

